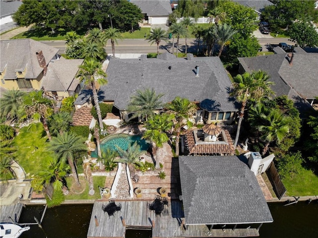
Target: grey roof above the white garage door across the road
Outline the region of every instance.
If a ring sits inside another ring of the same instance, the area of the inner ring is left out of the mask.
[[[172,13],[169,0],[131,0],[141,9],[142,13],[148,16],[168,16]]]

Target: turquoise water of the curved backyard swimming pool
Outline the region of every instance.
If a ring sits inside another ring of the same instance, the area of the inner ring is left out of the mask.
[[[120,147],[124,151],[127,151],[128,147],[132,144],[137,142],[137,144],[140,146],[140,149],[142,151],[147,151],[149,148],[149,143],[146,142],[146,140],[141,139],[141,136],[131,136],[127,134],[116,134],[116,135],[110,135],[106,137],[101,143],[100,143],[100,150],[106,151],[107,148],[109,148],[112,151],[118,151],[117,147]],[[97,158],[97,148],[95,151],[91,152],[90,156],[92,158]]]

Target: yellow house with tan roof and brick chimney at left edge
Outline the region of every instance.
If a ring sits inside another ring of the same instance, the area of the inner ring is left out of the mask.
[[[41,88],[51,60],[59,59],[59,49],[31,39],[0,41],[0,85],[7,89]]]

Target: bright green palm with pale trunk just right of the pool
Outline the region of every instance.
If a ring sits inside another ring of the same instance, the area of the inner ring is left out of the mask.
[[[146,123],[147,130],[143,139],[148,139],[156,144],[156,169],[160,168],[158,149],[169,140],[166,132],[171,130],[173,126],[173,119],[173,114],[157,114],[149,118]]]

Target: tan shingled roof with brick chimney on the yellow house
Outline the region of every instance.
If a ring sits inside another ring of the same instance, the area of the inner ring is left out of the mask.
[[[25,79],[36,79],[43,68],[40,67],[36,52],[43,52],[46,65],[55,59],[59,49],[31,39],[1,40],[0,72],[5,68],[3,79],[16,79],[16,71],[25,69]]]

